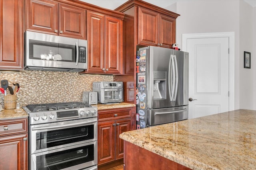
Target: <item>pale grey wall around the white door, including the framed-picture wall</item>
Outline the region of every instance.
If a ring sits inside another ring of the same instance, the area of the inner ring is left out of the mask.
[[[171,10],[171,8],[173,6],[166,9]],[[183,0],[176,3],[176,13],[180,14],[176,20],[176,43],[180,47],[184,33],[235,33],[235,109],[256,108],[254,106],[254,94],[256,94],[254,69],[244,70],[243,68],[243,51],[247,48],[252,52],[253,49],[252,21],[255,17],[252,11],[253,7],[238,0]],[[241,47],[240,39],[242,43],[246,41],[247,45],[244,44]],[[248,72],[249,74],[246,74]]]

